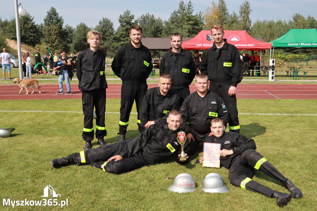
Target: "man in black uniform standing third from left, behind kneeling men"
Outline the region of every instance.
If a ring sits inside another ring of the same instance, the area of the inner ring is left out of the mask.
[[[184,99],[190,94],[189,85],[196,75],[194,58],[182,48],[183,38],[179,33],[171,35],[171,45],[161,59],[159,74],[169,74],[172,79],[171,90],[180,97],[182,105]]]

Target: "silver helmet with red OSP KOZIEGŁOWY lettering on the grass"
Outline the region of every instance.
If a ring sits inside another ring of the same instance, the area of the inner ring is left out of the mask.
[[[196,190],[195,180],[190,174],[182,173],[175,177],[174,183],[168,190],[177,193],[187,193]]]

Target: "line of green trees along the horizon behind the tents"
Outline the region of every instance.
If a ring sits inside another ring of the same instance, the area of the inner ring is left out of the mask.
[[[313,16],[305,18],[299,13],[292,16],[291,20],[255,20],[250,19],[252,9],[250,2],[245,0],[239,11],[229,13],[224,0],[217,3],[211,2],[203,12],[193,13],[191,1],[184,3],[180,1],[178,9],[171,13],[168,20],[163,21],[160,17],[146,13],[135,18],[129,10],[119,16],[119,27],[114,30],[113,22],[107,17],[102,17],[94,28],[85,23],[79,23],[76,28],[64,24],[64,19],[58,14],[54,7],[47,11],[43,23],[36,24],[34,17],[28,12],[20,16],[21,42],[35,48],[48,46],[52,51],[59,52],[64,48],[66,52],[72,53],[88,48],[87,32],[95,29],[102,34],[100,49],[107,56],[113,56],[124,43],[130,40],[129,28],[139,24],[143,28],[143,37],[169,37],[178,32],[183,37],[194,37],[203,29],[210,29],[214,24],[223,25],[225,30],[245,30],[253,37],[262,37],[264,42],[270,42],[288,32],[289,29],[312,29],[317,28],[317,21]],[[0,49],[6,47],[5,38],[16,40],[15,18],[9,21],[0,18]],[[301,52],[302,50],[297,50]],[[287,52],[287,50],[285,50]],[[304,52],[303,52],[304,53]],[[307,51],[305,53],[314,53]],[[160,56],[162,52],[153,52],[153,56]]]

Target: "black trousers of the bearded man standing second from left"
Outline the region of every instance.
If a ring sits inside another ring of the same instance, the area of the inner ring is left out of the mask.
[[[147,84],[125,84],[121,86],[121,107],[120,107],[120,121],[119,121],[119,134],[126,134],[126,129],[129,125],[129,117],[132,109],[133,102],[138,112],[138,128],[142,130],[142,125],[139,117],[139,111],[142,104],[142,100],[147,91]]]

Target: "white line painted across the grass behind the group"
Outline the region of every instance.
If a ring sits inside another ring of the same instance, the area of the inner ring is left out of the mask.
[[[0,112],[43,112],[43,113],[82,113],[82,112],[74,112],[74,111],[4,111],[0,110]],[[106,114],[120,114],[120,112],[105,112]],[[137,112],[131,112],[131,114],[138,114]],[[292,113],[239,113],[239,115],[281,115],[281,116],[317,116],[317,114],[292,114]]]

